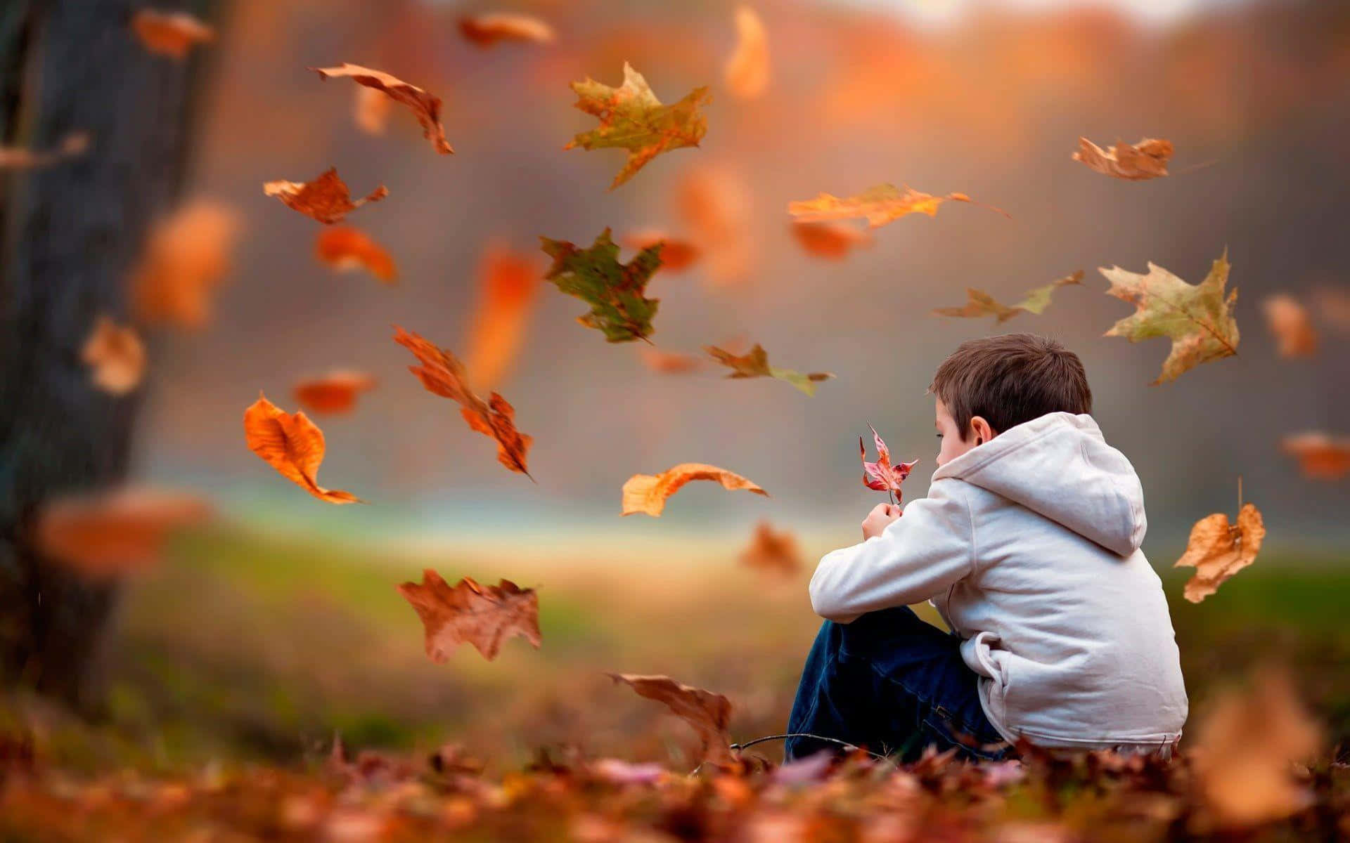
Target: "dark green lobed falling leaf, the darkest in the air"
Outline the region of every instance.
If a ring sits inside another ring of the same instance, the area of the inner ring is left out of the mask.
[[[544,279],[591,306],[590,313],[576,317],[578,322],[603,332],[608,343],[632,343],[651,336],[660,299],[643,294],[662,266],[660,247],[651,245],[628,263],[620,263],[618,245],[608,228],[587,250],[567,240],[539,240],[544,254],[554,259]]]

